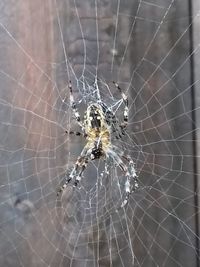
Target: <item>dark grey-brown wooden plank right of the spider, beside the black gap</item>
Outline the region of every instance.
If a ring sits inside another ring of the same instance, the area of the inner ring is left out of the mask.
[[[146,162],[140,178],[154,185],[136,209],[136,266],[197,264],[191,14],[188,1],[176,1],[168,10],[170,3],[146,6],[142,16],[148,19],[153,14],[154,22],[137,21],[132,43],[133,69],[140,64],[133,78],[134,123],[139,128],[135,136],[144,147],[141,161]],[[187,202],[181,204],[184,199]]]

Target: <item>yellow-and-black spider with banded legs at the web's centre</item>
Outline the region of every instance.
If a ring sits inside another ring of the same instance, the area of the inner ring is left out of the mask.
[[[70,106],[82,132],[66,131],[66,133],[84,136],[86,145],[78,157],[71,173],[66,177],[64,184],[58,189],[58,196],[65,190],[70,182],[73,183],[74,187],[77,187],[88,163],[96,159],[104,159],[105,161],[111,159],[112,162],[124,172],[126,177],[125,198],[121,207],[124,207],[128,203],[131,192],[139,187],[133,160],[129,155],[125,156],[124,152],[112,143],[112,139],[119,139],[122,138],[122,135],[125,135],[125,129],[128,124],[128,97],[122,92],[122,89],[116,82],[113,83],[120,92],[125,106],[123,123],[119,123],[112,108],[109,108],[100,98],[97,99],[97,101],[89,103],[82,121],[76,102],[74,101],[72,83],[69,81]],[[131,180],[133,180],[133,183],[131,183]]]

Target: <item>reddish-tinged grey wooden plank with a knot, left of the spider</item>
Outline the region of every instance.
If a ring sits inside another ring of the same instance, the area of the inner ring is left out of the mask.
[[[58,266],[62,260],[49,242],[56,218],[55,206],[48,208],[52,192],[55,198],[51,179],[59,165],[52,154],[59,129],[49,3],[0,6],[0,266]]]

